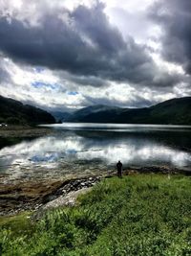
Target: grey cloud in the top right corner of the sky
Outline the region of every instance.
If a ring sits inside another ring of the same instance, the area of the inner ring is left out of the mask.
[[[150,13],[162,26],[162,55],[191,74],[191,1],[160,0]]]

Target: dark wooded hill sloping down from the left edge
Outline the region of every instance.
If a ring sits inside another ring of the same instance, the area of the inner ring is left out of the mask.
[[[55,123],[55,119],[45,110],[0,96],[0,123],[39,125]]]

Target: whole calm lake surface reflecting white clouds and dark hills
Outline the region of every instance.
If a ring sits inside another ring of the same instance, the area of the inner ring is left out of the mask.
[[[167,165],[191,169],[191,127],[62,124],[53,135],[23,140],[0,150],[0,170],[14,176],[75,172],[89,164],[114,167]]]

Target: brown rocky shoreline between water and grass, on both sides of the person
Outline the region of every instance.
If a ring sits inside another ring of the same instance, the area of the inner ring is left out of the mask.
[[[123,175],[138,174],[191,175],[191,171],[183,171],[168,167],[126,168]],[[60,205],[73,205],[80,193],[85,193],[105,177],[116,175],[116,172],[102,175],[87,175],[65,180],[25,181],[14,184],[1,184],[0,216],[14,215],[22,211],[37,211]]]

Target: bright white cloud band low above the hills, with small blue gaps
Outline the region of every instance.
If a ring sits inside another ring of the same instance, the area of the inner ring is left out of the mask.
[[[10,58],[3,58],[1,66],[11,81],[0,83],[0,93],[43,108],[64,110],[66,107],[79,108],[96,104],[142,107],[190,93],[184,83],[175,86],[172,91],[115,81],[107,81],[107,86],[101,87],[81,85],[70,81],[70,74],[65,72],[19,65]],[[39,72],[36,71],[38,69]],[[42,86],[35,87],[38,82]]]

